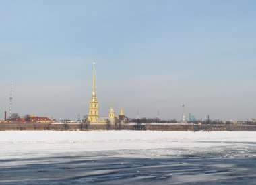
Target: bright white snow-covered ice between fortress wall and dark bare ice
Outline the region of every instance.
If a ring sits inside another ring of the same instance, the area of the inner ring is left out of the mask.
[[[1,131],[0,158],[125,149],[207,150],[256,142],[255,132],[188,131]],[[170,151],[170,150],[169,150]]]

